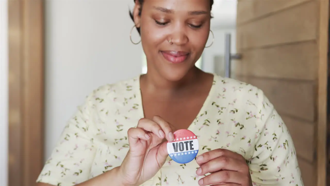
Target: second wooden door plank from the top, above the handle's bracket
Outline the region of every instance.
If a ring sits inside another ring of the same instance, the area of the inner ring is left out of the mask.
[[[242,50],[249,48],[315,40],[318,23],[316,8],[316,1],[309,1],[267,19],[238,25],[237,51],[242,53]]]

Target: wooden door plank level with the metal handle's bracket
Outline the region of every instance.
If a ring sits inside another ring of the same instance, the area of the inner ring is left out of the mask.
[[[236,62],[236,74],[315,80],[317,49],[316,41],[307,41],[243,51],[244,58]]]

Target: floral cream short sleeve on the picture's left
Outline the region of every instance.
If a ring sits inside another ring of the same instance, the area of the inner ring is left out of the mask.
[[[93,100],[90,94],[68,121],[37,182],[69,186],[88,180],[96,152],[91,132]]]

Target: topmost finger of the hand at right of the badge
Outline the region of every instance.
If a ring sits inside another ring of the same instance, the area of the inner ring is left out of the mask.
[[[199,166],[201,166],[202,164],[204,164],[212,159],[221,157],[221,156],[233,157],[237,160],[240,160],[241,162],[246,162],[245,158],[242,155],[237,154],[237,153],[232,152],[227,149],[215,149],[215,150],[203,153],[197,157],[196,162]]]

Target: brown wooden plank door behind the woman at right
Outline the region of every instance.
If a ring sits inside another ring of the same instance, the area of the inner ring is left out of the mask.
[[[328,0],[238,0],[235,78],[262,89],[296,147],[305,186],[326,185]]]

